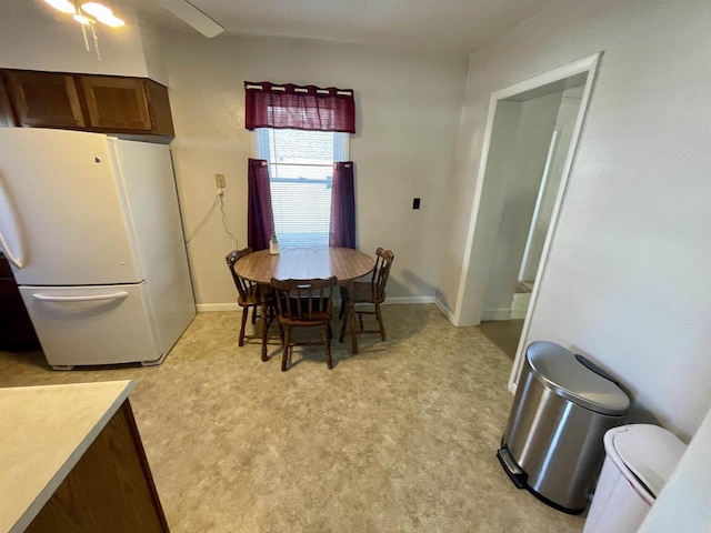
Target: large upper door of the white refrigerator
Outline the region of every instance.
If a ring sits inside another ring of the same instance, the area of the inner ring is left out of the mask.
[[[19,284],[136,283],[144,275],[107,137],[0,128],[0,233]]]

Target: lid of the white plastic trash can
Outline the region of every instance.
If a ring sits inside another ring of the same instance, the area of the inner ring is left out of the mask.
[[[659,495],[687,451],[687,444],[674,434],[652,424],[613,428],[604,435],[604,447],[634,474],[635,479],[630,481],[641,482],[652,497]],[[625,472],[622,474],[630,477]]]

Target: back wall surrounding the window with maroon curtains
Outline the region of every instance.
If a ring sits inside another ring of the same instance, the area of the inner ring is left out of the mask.
[[[227,221],[247,245],[243,81],[334,86],[356,91],[359,249],[395,253],[388,298],[432,301],[442,234],[444,184],[452,173],[467,60],[307,40],[174,36],[164,46],[176,125],[172,144],[189,234],[211,205],[214,174],[227,179]],[[412,199],[422,199],[412,210]],[[236,243],[218,211],[189,244],[199,309],[229,309],[236,291],[224,255]]]

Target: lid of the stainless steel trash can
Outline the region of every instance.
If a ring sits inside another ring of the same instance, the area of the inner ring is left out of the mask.
[[[525,354],[539,381],[575,405],[613,416],[630,409],[630,398],[622,389],[583,365],[574,353],[560,344],[535,341]]]

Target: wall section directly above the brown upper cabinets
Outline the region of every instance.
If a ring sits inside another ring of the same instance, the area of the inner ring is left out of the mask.
[[[143,40],[151,40],[148,29],[140,29],[132,8],[114,9],[126,21],[123,28],[97,28],[101,60],[87,51],[81,27],[71,16],[54,10],[40,0],[0,1],[0,67],[9,69],[83,72],[94,74],[152,78],[167,84],[164,69],[157,54],[147,63]],[[151,40],[154,49],[154,40]]]

